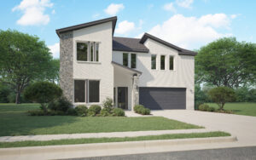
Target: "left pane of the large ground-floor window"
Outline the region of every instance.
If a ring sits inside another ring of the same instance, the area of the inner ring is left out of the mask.
[[[85,81],[74,81],[74,102],[85,102]]]

